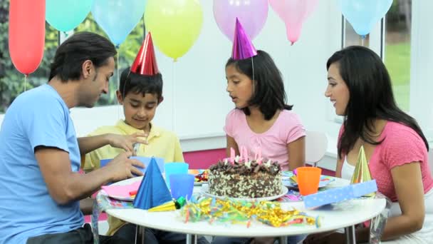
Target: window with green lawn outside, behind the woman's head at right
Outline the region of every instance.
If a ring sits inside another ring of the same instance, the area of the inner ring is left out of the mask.
[[[341,46],[366,46],[376,51],[384,60],[390,73],[392,88],[397,105],[409,111],[410,105],[410,32],[412,16],[412,0],[394,0],[385,19],[362,39],[350,23],[342,18]],[[328,118],[337,123],[343,122],[342,116],[335,116],[333,110],[328,111]]]

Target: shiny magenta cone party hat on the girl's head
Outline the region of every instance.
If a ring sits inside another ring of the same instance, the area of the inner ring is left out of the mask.
[[[246,34],[244,27],[242,27],[241,22],[236,18],[231,58],[234,60],[249,59],[256,55],[256,48],[254,48],[254,45],[251,43],[251,40],[249,39],[248,34]]]

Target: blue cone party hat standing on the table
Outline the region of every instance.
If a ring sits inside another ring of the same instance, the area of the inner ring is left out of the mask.
[[[172,195],[165,184],[164,178],[162,178],[155,158],[152,158],[149,166],[147,166],[143,181],[137,190],[137,195],[135,195],[134,207],[147,210],[168,201],[172,201]]]

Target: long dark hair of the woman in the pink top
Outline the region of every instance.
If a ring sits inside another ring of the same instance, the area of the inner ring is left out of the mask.
[[[350,93],[345,109],[344,131],[338,143],[339,158],[355,146],[358,138],[372,145],[382,143],[373,140],[375,119],[409,126],[418,133],[429,150],[429,143],[417,121],[395,103],[390,74],[374,51],[363,46],[348,46],[328,59],[326,69],[333,63],[338,63],[340,76]]]

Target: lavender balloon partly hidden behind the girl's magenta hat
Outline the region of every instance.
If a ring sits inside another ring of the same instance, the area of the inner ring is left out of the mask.
[[[236,17],[249,38],[254,39],[268,18],[268,0],[214,0],[216,24],[230,41],[233,41]]]

